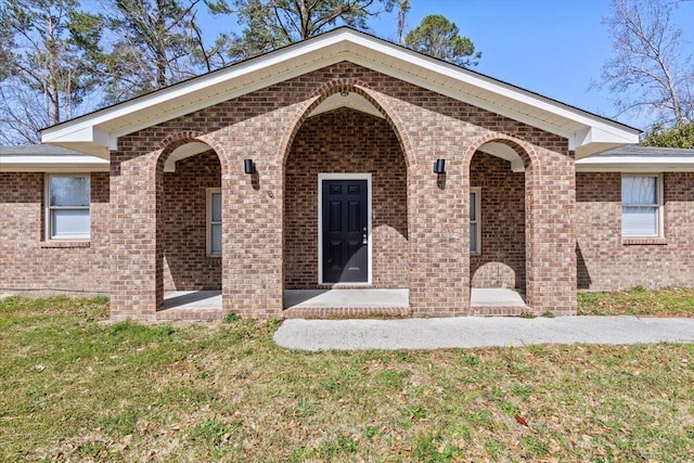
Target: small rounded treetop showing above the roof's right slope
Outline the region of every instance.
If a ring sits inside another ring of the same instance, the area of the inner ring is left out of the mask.
[[[481,52],[475,52],[475,46],[467,37],[440,14],[432,14],[408,33],[404,46],[420,53],[448,61],[459,66],[476,66]]]

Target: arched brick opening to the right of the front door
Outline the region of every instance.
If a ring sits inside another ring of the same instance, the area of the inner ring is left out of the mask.
[[[465,152],[464,166],[470,201],[476,201],[468,205],[465,243],[471,253],[471,290],[516,290],[531,305],[532,198],[540,171],[537,153],[524,140],[489,133]],[[476,239],[472,236],[475,232]]]

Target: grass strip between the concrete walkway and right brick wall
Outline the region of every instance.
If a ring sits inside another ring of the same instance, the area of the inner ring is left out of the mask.
[[[581,316],[694,317],[694,290],[637,286],[621,292],[579,292]]]

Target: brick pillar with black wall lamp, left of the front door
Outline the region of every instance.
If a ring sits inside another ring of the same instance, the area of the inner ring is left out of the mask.
[[[234,130],[242,134],[228,145],[222,175],[223,309],[256,319],[282,317],[284,175],[277,133],[270,133],[279,125],[239,126]],[[244,158],[253,158],[257,173],[244,173]]]

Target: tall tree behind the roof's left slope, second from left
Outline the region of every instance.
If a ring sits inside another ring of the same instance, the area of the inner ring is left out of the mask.
[[[107,21],[115,33],[103,56],[106,102],[116,103],[211,70],[195,23],[201,0],[112,0]],[[197,60],[197,61],[195,61]]]

